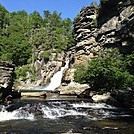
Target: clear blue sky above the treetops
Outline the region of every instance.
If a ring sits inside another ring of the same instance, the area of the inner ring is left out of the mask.
[[[82,7],[90,5],[92,2],[99,3],[99,0],[0,0],[9,12],[25,10],[28,13],[38,11],[43,15],[44,10],[62,13],[62,18],[71,18],[79,13]]]

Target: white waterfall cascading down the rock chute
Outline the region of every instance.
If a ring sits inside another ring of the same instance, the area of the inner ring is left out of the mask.
[[[64,67],[61,67],[61,69],[53,75],[53,77],[50,80],[50,83],[41,90],[54,91],[57,87],[59,87],[61,85],[63,71],[64,69],[68,68],[68,65],[69,60],[66,61]]]

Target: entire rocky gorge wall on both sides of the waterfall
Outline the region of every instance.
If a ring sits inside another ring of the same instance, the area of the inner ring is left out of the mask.
[[[40,45],[35,52],[36,60],[31,66],[35,67],[35,81],[31,81],[28,73],[26,80],[20,80],[20,87],[45,85],[50,78],[70,58],[69,68],[64,71],[63,84],[74,81],[74,72],[79,64],[87,64],[97,52],[104,48],[116,47],[122,53],[134,50],[134,0],[102,0],[101,6],[95,4],[83,8],[74,19],[73,34],[75,46],[67,52],[49,54],[44,60]]]

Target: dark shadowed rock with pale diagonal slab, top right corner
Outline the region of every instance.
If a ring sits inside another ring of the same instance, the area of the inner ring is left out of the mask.
[[[114,9],[110,17],[108,14],[105,16],[106,10],[109,10],[107,3]],[[118,47],[122,53],[131,53],[134,51],[134,1],[107,1],[102,6],[96,41],[103,47]]]

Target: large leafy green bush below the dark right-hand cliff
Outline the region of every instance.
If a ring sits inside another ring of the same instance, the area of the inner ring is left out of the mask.
[[[134,75],[126,68],[123,56],[116,49],[102,51],[86,67],[75,72],[75,81],[88,83],[98,91],[111,91],[134,86]]]

